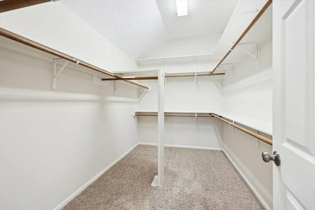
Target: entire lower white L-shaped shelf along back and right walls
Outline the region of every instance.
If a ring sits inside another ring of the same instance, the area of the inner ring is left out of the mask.
[[[140,114],[140,113],[146,113],[146,114],[157,114],[158,112],[156,110],[137,110],[134,112],[135,114]],[[219,115],[225,119],[237,122],[239,124],[245,125],[247,127],[250,127],[254,130],[263,132],[265,134],[271,135],[272,136],[272,122],[264,121],[264,120],[257,120],[254,118],[249,118],[241,115],[235,115],[232,113],[228,112],[223,112],[223,111],[172,111],[172,110],[167,110],[164,111],[164,113],[176,113],[176,114],[191,114],[194,115],[195,113],[198,114],[214,114],[214,115]]]

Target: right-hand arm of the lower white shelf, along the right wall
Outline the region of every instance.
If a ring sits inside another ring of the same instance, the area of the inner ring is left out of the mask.
[[[257,120],[223,111],[216,111],[212,113],[272,136],[272,122]]]

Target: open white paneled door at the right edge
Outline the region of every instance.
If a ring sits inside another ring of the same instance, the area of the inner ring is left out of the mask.
[[[314,4],[273,1],[274,210],[315,210]]]

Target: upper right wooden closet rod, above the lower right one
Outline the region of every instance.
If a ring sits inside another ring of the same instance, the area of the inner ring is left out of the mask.
[[[257,14],[255,15],[255,17],[252,19],[251,23],[246,27],[246,29],[243,31],[243,33],[238,37],[238,39],[234,42],[234,44],[232,45],[232,47],[227,51],[227,53],[225,54],[225,56],[220,60],[220,62],[218,63],[218,65],[216,65],[216,67],[211,71],[211,73],[213,74],[213,72],[215,72],[215,70],[217,68],[219,68],[219,66],[221,65],[221,63],[223,62],[223,60],[226,59],[226,57],[232,52],[232,50],[237,46],[237,44],[241,41],[241,39],[246,35],[246,33],[252,28],[252,26],[257,22],[257,20],[260,18],[260,16],[266,11],[266,9],[269,7],[269,5],[272,3],[272,0],[267,0],[264,5],[261,7],[261,9],[257,12]]]

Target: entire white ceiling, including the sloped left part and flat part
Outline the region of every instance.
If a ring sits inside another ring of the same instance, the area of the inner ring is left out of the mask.
[[[177,17],[175,0],[62,0],[132,59],[169,39],[223,33],[239,0],[189,0]]]

